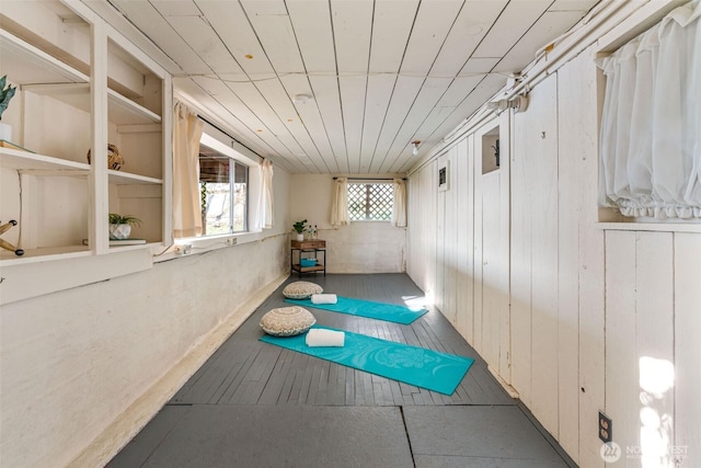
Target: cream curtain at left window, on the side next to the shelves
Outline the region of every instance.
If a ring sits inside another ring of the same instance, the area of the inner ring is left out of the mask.
[[[199,138],[203,122],[181,102],[173,110],[173,236],[202,235]]]

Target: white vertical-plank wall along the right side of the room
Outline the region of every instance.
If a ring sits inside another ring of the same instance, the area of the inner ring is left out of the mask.
[[[475,165],[469,148],[476,126],[456,141],[457,149],[410,172],[410,219],[434,213],[436,228],[410,226],[407,272],[435,293],[436,305],[579,466],[605,466],[596,431],[602,410],[622,449],[612,466],[697,467],[701,233],[598,222],[596,47],[550,70],[531,90],[528,111],[510,122],[510,375],[495,365],[489,345],[501,336],[489,328],[497,310],[484,304],[484,294],[498,289],[502,276],[486,275],[480,258],[479,212],[487,191],[468,169]],[[472,183],[457,194],[459,212],[467,214],[457,224],[432,184],[446,157],[457,158],[458,176]],[[452,244],[455,236],[474,258]],[[472,290],[456,292],[448,287],[452,282]],[[665,383],[667,369],[674,369],[674,385],[650,388],[646,381]],[[663,452],[674,456],[644,464],[641,450],[655,441],[667,441]]]

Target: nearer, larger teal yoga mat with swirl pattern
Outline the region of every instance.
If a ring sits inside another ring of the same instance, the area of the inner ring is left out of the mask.
[[[260,340],[444,395],[452,395],[474,363],[471,357],[380,340],[345,330],[319,326],[313,328],[343,331],[345,345],[310,347],[304,342],[306,333],[288,338],[266,334]]]

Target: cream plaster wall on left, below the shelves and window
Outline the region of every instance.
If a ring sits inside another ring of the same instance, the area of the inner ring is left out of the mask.
[[[289,175],[276,168],[274,183],[275,228],[261,240],[0,308],[0,466],[66,466],[159,379],[197,369],[215,349],[202,349],[208,335],[289,272]],[[177,388],[161,387],[151,413],[141,408],[95,456],[110,459]]]

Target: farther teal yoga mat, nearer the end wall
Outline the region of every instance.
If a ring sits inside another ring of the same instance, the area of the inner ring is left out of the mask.
[[[406,306],[398,306],[397,304],[374,303],[371,300],[353,299],[350,297],[342,296],[336,297],[338,299],[336,304],[311,304],[311,299],[285,299],[285,301],[302,307],[313,307],[317,309],[367,317],[370,319],[384,320],[405,326],[410,324],[428,311],[423,308],[410,309]]]

